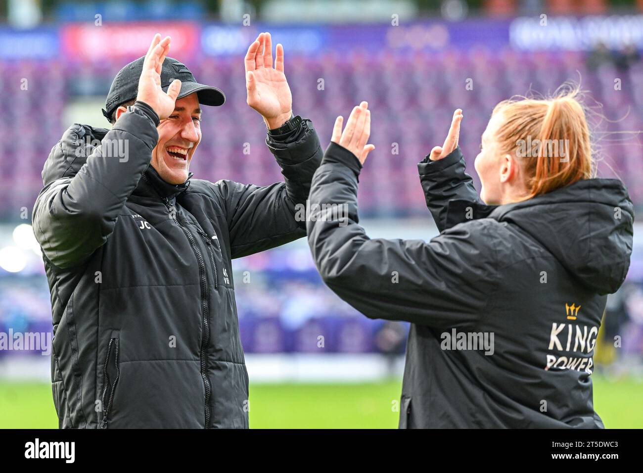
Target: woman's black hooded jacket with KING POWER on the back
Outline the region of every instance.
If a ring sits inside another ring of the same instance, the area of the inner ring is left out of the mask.
[[[606,294],[632,250],[622,183],[583,180],[491,207],[458,148],[419,165],[441,231],[427,243],[366,236],[360,169],[343,147],[327,149],[311,209],[347,205],[349,224],[311,212],[308,241],[342,299],[367,317],[412,322],[399,427],[603,427],[590,375]]]

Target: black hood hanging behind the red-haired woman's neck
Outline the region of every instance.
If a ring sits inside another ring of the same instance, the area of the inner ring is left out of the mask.
[[[489,217],[524,230],[599,294],[616,292],[628,272],[634,209],[619,180],[577,181],[495,207]]]

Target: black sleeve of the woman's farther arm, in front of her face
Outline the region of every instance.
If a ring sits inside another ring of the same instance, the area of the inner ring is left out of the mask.
[[[417,165],[426,207],[433,215],[440,232],[447,227],[449,201],[457,199],[482,203],[473,187],[473,180],[465,169],[466,163],[459,146],[441,160],[431,161],[427,155]]]

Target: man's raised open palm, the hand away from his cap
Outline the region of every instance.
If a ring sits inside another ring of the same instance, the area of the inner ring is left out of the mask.
[[[248,105],[275,129],[293,115],[293,95],[284,75],[284,47],[277,44],[273,67],[273,43],[270,33],[259,33],[246,54],[246,89]]]

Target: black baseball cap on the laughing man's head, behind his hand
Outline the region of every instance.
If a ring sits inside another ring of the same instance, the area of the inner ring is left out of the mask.
[[[105,99],[105,109],[103,109],[103,115],[109,122],[112,120],[114,110],[122,104],[126,104],[136,98],[138,94],[138,80],[143,71],[143,60],[145,60],[145,56],[130,62],[114,77],[112,86],[109,88],[109,93]],[[216,87],[199,84],[183,62],[166,57],[163,61],[163,68],[161,68],[161,89],[167,92],[168,87],[174,79],[181,81],[181,91],[177,99],[196,92],[199,98],[199,104],[218,107],[226,101],[226,96],[221,90]]]

